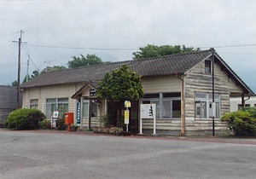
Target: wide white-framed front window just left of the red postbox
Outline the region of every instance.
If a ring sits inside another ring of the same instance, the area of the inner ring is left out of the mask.
[[[46,117],[50,117],[55,111],[59,111],[59,117],[68,112],[68,98],[46,99]]]

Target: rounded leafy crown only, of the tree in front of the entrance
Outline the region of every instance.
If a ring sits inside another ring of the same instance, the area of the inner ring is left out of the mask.
[[[142,79],[128,66],[121,66],[99,81],[96,95],[114,101],[137,100],[144,95]]]

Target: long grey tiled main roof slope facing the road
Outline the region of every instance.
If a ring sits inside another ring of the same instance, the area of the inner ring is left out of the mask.
[[[212,52],[210,50],[204,50],[186,54],[165,55],[137,61],[119,61],[96,66],[66,69],[57,72],[45,72],[41,73],[37,78],[26,82],[26,84],[22,84],[21,88],[89,82],[90,80],[97,81],[102,79],[106,72],[112,72],[123,65],[130,66],[132,72],[137,72],[138,75],[143,77],[176,73],[183,74],[211,54]]]

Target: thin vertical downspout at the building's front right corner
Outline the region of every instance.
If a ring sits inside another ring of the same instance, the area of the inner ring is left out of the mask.
[[[184,75],[181,75],[181,78],[177,76],[176,78],[181,80],[181,136],[185,135],[185,102],[184,102]]]

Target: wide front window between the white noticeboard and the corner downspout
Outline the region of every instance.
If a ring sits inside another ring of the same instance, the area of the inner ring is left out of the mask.
[[[181,117],[180,93],[146,94],[143,104],[155,104],[156,118],[172,119]]]

